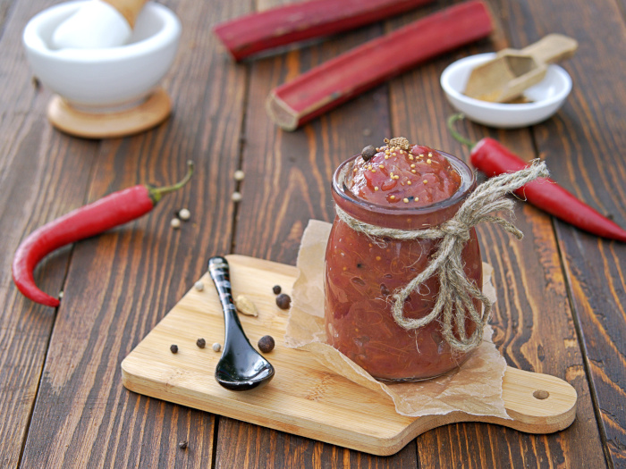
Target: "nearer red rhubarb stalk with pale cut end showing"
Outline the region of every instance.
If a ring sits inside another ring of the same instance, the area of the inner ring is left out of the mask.
[[[493,30],[486,5],[457,4],[322,63],[267,97],[269,116],[295,130],[337,105],[438,54],[486,38]]]

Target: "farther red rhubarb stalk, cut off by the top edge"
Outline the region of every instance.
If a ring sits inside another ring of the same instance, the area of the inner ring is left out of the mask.
[[[266,49],[384,20],[434,0],[312,0],[218,24],[214,32],[237,61]]]

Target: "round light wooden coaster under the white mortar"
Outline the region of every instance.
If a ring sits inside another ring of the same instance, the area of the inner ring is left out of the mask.
[[[55,95],[47,106],[47,118],[58,130],[76,137],[118,138],[156,127],[171,111],[170,97],[157,88],[140,105],[114,113],[86,113]]]

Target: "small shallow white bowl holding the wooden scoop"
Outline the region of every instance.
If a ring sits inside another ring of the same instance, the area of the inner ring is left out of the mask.
[[[441,87],[448,101],[471,121],[500,129],[526,127],[551,117],[570,94],[570,75],[558,65],[549,65],[546,78],[524,93],[531,103],[489,103],[463,95],[469,73],[494,57],[495,53],[465,57],[449,65],[441,75]]]

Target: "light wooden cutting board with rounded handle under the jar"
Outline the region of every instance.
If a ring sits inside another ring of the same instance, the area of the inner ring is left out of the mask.
[[[191,289],[122,362],[127,389],[170,402],[287,431],[376,455],[391,455],[424,431],[446,423],[498,423],[520,431],[549,433],[566,428],[576,416],[576,390],[554,376],[509,367],[503,400],[513,420],[491,416],[406,417],[385,394],[331,373],[308,352],[283,343],[287,312],[275,306],[274,285],[291,294],[298,269],[242,255],[228,255],[233,295],[245,294],[258,317],[240,315],[250,342],[269,334],[275,349],[266,357],[275,378],[262,389],[233,392],[213,376],[220,354],[211,345],[224,340],[224,321],[212,281]],[[206,348],[196,346],[204,338]],[[178,353],[170,346],[176,344]]]

